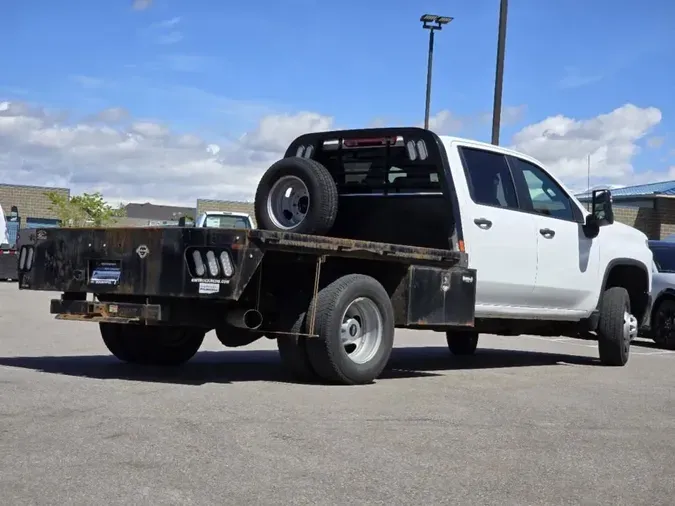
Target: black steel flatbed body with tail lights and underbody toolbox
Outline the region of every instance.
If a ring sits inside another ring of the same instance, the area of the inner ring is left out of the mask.
[[[199,324],[215,328],[218,325],[215,315],[222,315],[223,309],[229,310],[222,307],[223,303],[228,304],[228,308],[242,306],[257,310],[264,304],[261,300],[263,280],[276,280],[278,286],[288,283],[283,280],[288,273],[281,272],[288,269],[275,270],[275,274],[266,277],[262,274],[264,258],[285,255],[286,258],[279,260],[284,266],[288,261],[304,260],[314,264],[310,269],[303,269],[308,276],[311,272],[305,284],[311,281],[314,295],[321,286],[321,265],[325,265],[326,260],[329,260],[328,266],[331,259],[388,264],[389,267],[383,265],[386,269],[378,272],[394,272],[387,288],[397,327],[442,329],[471,327],[474,323],[476,273],[466,267],[467,257],[463,252],[257,229],[191,227],[37,229],[21,244],[22,248],[31,246],[35,248],[33,265],[30,269],[20,266],[19,287],[64,292],[61,299],[51,302],[50,312],[59,319]],[[183,262],[190,248],[219,247],[228,248],[237,274],[230,280],[195,279]],[[153,252],[157,251],[162,255],[159,265],[148,265]],[[167,274],[171,268],[178,267],[176,256],[181,257],[182,276]],[[92,262],[105,261],[118,262],[119,283],[92,286]],[[394,264],[399,267],[392,268]],[[78,271],[81,272],[78,274]],[[386,280],[381,281],[387,285]],[[215,293],[204,293],[206,290],[202,288],[206,285]],[[293,289],[299,288],[293,286]],[[98,301],[87,301],[87,293],[96,294]],[[187,307],[202,302],[205,304],[199,307],[204,311],[177,310],[180,305]],[[214,311],[214,306],[220,309]],[[120,314],[122,310],[126,315]],[[186,316],[186,312],[194,316]]]

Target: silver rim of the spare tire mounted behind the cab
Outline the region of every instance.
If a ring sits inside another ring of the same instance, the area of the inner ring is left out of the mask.
[[[277,180],[267,196],[267,215],[275,227],[291,230],[303,222],[309,209],[309,190],[297,176]]]

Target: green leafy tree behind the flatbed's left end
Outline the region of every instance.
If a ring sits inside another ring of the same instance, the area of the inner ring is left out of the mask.
[[[99,192],[68,197],[52,191],[46,195],[62,227],[105,227],[126,215],[122,204],[118,207],[109,205]]]

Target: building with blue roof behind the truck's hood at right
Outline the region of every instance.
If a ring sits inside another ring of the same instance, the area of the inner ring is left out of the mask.
[[[675,233],[675,180],[611,189],[616,221],[641,230],[649,239]],[[583,203],[591,194],[576,197]]]

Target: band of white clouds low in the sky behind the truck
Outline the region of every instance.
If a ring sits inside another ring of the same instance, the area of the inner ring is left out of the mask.
[[[265,111],[265,112],[262,112]],[[104,109],[82,121],[23,102],[0,102],[0,181],[101,191],[113,201],[193,205],[197,198],[253,197],[263,171],[306,132],[338,128],[316,112],[270,114],[230,140],[174,132],[126,109]],[[452,113],[437,114],[441,129],[461,126]],[[588,119],[562,115],[529,125],[513,148],[539,159],[571,188],[586,186],[587,156],[593,184],[667,179],[675,169],[636,172],[638,143],[661,121],[654,107],[626,104]]]

